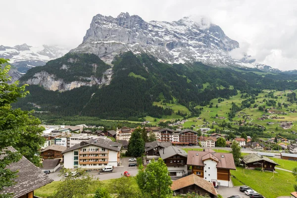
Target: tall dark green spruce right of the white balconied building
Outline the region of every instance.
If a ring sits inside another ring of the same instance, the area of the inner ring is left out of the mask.
[[[128,153],[134,157],[140,157],[145,152],[145,141],[142,137],[142,128],[136,128],[131,135],[128,145]]]

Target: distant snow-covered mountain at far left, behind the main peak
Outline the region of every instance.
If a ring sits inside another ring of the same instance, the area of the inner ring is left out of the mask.
[[[16,67],[21,73],[32,67],[45,65],[52,59],[59,58],[69,50],[56,46],[43,45],[41,47],[32,47],[27,44],[14,47],[0,46],[0,58],[9,59],[9,63]]]

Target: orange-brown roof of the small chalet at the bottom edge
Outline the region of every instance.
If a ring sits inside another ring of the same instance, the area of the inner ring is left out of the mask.
[[[214,196],[218,195],[211,182],[208,182],[195,174],[188,175],[186,177],[173,181],[171,185],[171,190],[176,191],[194,184],[200,187],[201,189],[204,189],[208,193],[211,193]]]

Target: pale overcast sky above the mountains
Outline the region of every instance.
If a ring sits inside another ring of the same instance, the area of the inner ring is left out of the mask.
[[[1,2],[0,45],[76,48],[98,13],[120,12],[145,21],[205,17],[239,42],[259,63],[297,69],[297,0],[6,0]]]

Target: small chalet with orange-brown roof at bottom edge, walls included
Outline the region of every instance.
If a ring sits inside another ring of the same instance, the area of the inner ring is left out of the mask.
[[[213,184],[195,174],[188,175],[172,182],[171,190],[175,195],[196,193],[199,196],[215,198],[218,193]]]

